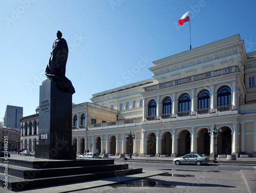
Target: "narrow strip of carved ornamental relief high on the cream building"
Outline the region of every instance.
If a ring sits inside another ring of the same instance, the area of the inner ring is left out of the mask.
[[[230,56],[230,55],[237,54],[237,53],[239,53],[239,50],[238,49],[233,49],[233,50],[230,50],[230,51],[222,52],[220,54],[207,56],[207,57],[197,59],[197,60],[194,60],[194,61],[189,61],[187,63],[182,63],[179,66],[174,66],[174,67],[163,69],[163,70],[160,70],[160,71],[157,71],[157,72],[153,72],[154,73],[153,76],[157,76],[157,75],[160,75],[160,74],[164,74],[164,73],[180,70],[180,69],[183,69],[183,68],[195,66],[195,65],[198,65],[199,63],[204,63],[204,62],[207,62],[207,61],[223,58],[223,57]]]

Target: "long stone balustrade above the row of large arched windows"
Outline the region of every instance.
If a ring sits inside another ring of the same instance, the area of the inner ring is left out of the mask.
[[[150,91],[154,91],[162,88],[173,87],[174,85],[184,84],[187,82],[193,82],[196,80],[202,80],[202,79],[207,79],[215,76],[221,76],[223,74],[228,74],[232,72],[239,72],[239,68],[237,66],[227,67],[219,70],[214,70],[214,71],[205,72],[202,74],[197,74],[197,75],[188,76],[185,78],[180,78],[180,79],[176,79],[168,82],[155,84],[150,87],[145,87],[143,89],[144,89],[144,92],[150,92]]]

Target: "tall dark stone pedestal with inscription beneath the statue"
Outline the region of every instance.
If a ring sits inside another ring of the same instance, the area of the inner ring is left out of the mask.
[[[76,159],[72,146],[72,93],[58,90],[56,83],[47,79],[42,82],[39,95],[35,158]]]

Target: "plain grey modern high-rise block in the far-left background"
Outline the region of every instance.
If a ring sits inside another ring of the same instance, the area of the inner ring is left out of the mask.
[[[23,107],[7,105],[4,117],[4,125],[20,132],[20,121],[23,117]]]

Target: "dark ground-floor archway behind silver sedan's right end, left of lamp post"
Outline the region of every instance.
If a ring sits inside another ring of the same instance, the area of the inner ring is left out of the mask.
[[[197,153],[210,155],[210,135],[208,134],[208,129],[203,128],[198,137],[197,141]]]

